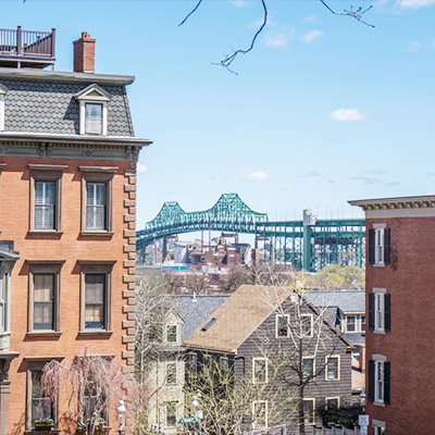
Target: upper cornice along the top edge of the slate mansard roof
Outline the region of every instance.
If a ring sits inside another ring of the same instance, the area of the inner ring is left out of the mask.
[[[34,69],[0,67],[0,78],[13,80],[96,83],[98,85],[127,86],[135,80],[133,75],[111,75],[94,73],[71,73]]]

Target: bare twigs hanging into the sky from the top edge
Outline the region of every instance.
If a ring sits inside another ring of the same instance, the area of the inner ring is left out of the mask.
[[[212,62],[214,65],[220,65],[223,66],[224,69],[228,70],[229,72],[237,74],[235,71],[233,71],[231,69],[232,63],[234,62],[234,60],[240,55],[240,54],[247,54],[249,53],[254,45],[256,41],[259,37],[259,35],[263,32],[264,27],[268,24],[268,4],[266,4],[266,0],[258,0],[261,3],[262,7],[262,13],[263,13],[263,17],[262,21],[259,25],[259,27],[257,28],[256,33],[252,36],[251,42],[249,45],[249,47],[245,48],[245,49],[238,49],[238,50],[234,50],[234,52],[232,54],[226,54],[224,57],[224,59],[222,59],[219,62]],[[334,9],[332,9],[324,0],[320,0],[320,2],[334,15],[340,15],[340,16],[349,16],[351,18],[357,20],[358,22],[369,26],[369,27],[374,27],[374,25],[368,23],[366,21],[364,21],[364,14],[366,12],[369,12],[372,9],[372,5],[368,7],[368,8],[357,8],[353,9],[353,7],[350,7],[349,9],[345,9],[343,11],[336,11]],[[195,8],[184,17],[184,20],[178,24],[178,26],[182,26],[183,24],[185,24],[187,22],[187,20],[189,20],[189,17],[195,14],[195,12],[198,10],[198,8],[201,5],[202,0],[198,0]]]

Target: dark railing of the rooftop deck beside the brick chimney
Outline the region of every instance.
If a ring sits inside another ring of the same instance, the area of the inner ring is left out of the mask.
[[[0,57],[54,59],[55,29],[51,32],[0,28]]]

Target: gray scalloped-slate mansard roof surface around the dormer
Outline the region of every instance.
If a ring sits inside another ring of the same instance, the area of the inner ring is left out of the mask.
[[[123,85],[105,84],[104,80],[99,83],[94,74],[80,75],[79,82],[73,82],[69,75],[60,76],[64,80],[59,77],[53,80],[53,76],[44,75],[48,72],[38,72],[42,74],[37,78],[27,74],[16,79],[1,70],[0,86],[8,89],[4,96],[4,132],[78,136],[79,101],[75,96],[86,92],[94,85],[100,94],[112,97],[107,102],[107,136],[134,136],[125,80],[121,82]],[[87,83],[83,82],[86,77]]]

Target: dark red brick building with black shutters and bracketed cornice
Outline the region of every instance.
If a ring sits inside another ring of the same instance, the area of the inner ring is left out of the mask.
[[[349,201],[366,220],[366,413],[374,435],[435,433],[435,196]]]

